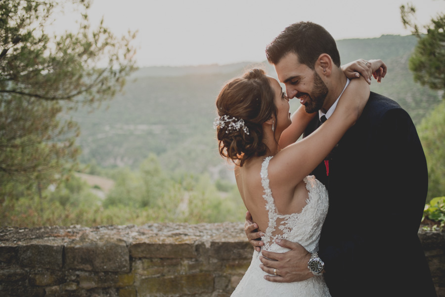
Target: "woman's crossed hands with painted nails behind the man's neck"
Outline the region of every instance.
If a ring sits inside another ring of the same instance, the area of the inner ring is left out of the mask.
[[[382,78],[385,77],[388,67],[386,64],[378,59],[378,60],[363,60],[358,59],[354,62],[343,65],[343,72],[346,77],[349,79],[354,79],[360,77],[365,78],[368,84],[371,84],[371,75],[377,80],[377,82],[381,82]]]

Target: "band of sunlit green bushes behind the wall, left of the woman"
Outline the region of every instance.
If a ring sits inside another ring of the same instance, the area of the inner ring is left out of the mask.
[[[70,175],[57,186],[45,189],[42,199],[37,194],[26,194],[4,202],[0,227],[201,223],[244,218],[245,208],[236,186],[226,184],[222,193],[206,175],[182,173],[168,177],[153,155],[144,160],[140,170],[112,171],[116,184],[105,200],[95,196],[79,177]],[[155,189],[150,189],[153,184],[146,179],[156,180]]]

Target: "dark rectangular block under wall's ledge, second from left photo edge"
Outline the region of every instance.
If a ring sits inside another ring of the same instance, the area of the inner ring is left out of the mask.
[[[61,269],[62,254],[62,245],[29,244],[18,247],[18,261],[25,267]]]

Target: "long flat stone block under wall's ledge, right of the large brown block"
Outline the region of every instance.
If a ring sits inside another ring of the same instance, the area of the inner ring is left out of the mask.
[[[138,242],[130,246],[134,258],[194,258],[193,243],[151,243]]]

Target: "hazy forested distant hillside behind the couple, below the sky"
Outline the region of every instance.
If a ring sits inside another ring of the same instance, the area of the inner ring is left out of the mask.
[[[416,44],[412,36],[338,41],[342,63],[357,58],[384,60],[389,72],[373,91],[401,104],[418,124],[441,101],[437,92],[415,84],[407,61]],[[95,160],[103,167],[137,167],[150,152],[170,171],[227,174],[217,153],[213,130],[215,99],[224,82],[255,63],[139,69],[108,104],[93,113],[79,110],[81,162]],[[268,73],[273,67],[262,64]],[[291,101],[291,109],[298,106]]]

